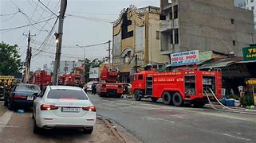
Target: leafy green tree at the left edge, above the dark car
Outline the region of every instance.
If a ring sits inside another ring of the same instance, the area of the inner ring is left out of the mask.
[[[0,75],[13,75],[22,69],[18,45],[0,43]]]

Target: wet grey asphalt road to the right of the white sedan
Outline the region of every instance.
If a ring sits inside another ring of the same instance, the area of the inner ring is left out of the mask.
[[[256,142],[255,115],[89,96],[97,114],[116,121],[143,142]]]

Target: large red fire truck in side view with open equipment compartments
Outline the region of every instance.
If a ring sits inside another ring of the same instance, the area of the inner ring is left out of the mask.
[[[132,75],[134,99],[151,98],[153,102],[163,99],[164,104],[204,106],[212,91],[221,98],[222,75],[219,71],[153,72],[143,71]]]

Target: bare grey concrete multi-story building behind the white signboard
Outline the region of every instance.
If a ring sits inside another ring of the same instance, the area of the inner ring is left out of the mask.
[[[161,53],[189,50],[242,56],[252,43],[254,15],[233,0],[161,0],[166,20],[160,23]]]

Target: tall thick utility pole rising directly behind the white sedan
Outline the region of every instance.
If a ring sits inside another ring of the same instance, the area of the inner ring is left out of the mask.
[[[65,18],[65,10],[67,7],[67,0],[61,0],[61,11],[59,16],[59,27],[58,33],[55,33],[57,41],[57,49],[55,56],[55,63],[53,69],[53,85],[58,84],[58,75],[60,71],[60,61],[61,61],[61,44],[62,44],[62,35],[63,35],[63,22]]]

